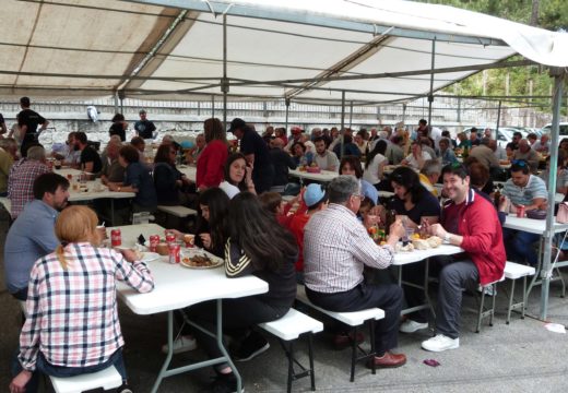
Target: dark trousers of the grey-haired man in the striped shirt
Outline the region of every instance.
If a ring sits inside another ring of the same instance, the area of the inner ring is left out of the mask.
[[[378,307],[384,318],[376,321],[375,349],[377,356],[398,346],[399,318],[402,309],[402,289],[394,284],[366,285],[335,294],[317,293],[306,287],[308,299],[316,306],[336,312],[360,311]]]

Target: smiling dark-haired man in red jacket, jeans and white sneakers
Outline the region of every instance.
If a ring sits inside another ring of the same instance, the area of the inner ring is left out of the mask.
[[[435,337],[422,343],[426,350],[442,352],[460,346],[462,288],[498,281],[505,269],[505,247],[497,211],[490,202],[470,188],[468,169],[450,164],[442,169],[446,203],[440,224],[427,225],[430,235],[461,247],[440,272]]]

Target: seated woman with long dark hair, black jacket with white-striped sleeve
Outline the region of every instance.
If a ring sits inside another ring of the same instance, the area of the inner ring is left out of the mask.
[[[277,225],[274,215],[265,211],[250,192],[241,192],[230,201],[228,229],[229,238],[225,247],[227,277],[252,274],[269,284],[267,294],[223,299],[223,327],[225,333],[235,335],[258,323],[277,320],[289,310],[296,297],[294,262],[298,247],[294,236]],[[191,320],[208,330],[215,329],[215,301],[192,306],[188,313]],[[222,356],[214,337],[197,329],[193,334],[210,358]],[[234,357],[249,360],[269,347],[264,337],[251,332]],[[228,364],[214,368],[217,379],[213,391],[234,392],[237,381]]]

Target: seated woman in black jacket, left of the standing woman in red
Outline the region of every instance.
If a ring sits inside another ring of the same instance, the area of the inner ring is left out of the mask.
[[[154,186],[158,205],[188,204],[188,191],[192,182],[176,168],[176,150],[159,145],[154,157]]]

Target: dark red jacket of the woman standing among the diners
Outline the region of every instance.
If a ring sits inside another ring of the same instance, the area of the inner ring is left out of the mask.
[[[198,158],[197,187],[218,187],[223,181],[223,170],[227,157],[228,147],[225,143],[218,140],[208,143]]]

